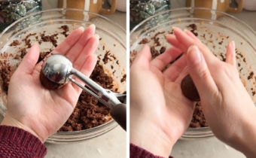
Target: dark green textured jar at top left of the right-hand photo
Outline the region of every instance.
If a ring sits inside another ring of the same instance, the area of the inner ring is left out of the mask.
[[[130,0],[130,30],[148,17],[170,8],[170,0]],[[163,16],[160,19],[164,19]]]

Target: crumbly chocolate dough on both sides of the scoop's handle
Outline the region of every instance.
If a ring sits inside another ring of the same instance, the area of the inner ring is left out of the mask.
[[[114,86],[113,78],[105,74],[102,65],[99,65],[99,61],[90,75],[90,79],[105,89],[111,89]],[[82,91],[75,110],[69,120],[59,129],[59,132],[72,132],[102,125],[111,120],[111,117],[106,117],[107,115],[109,116],[109,112],[110,108],[102,105],[93,96]]]

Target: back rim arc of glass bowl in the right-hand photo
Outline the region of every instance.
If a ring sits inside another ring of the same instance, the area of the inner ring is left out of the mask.
[[[243,26],[247,27],[251,32],[253,32],[253,34],[256,36],[256,31],[254,31],[254,29],[252,29],[250,26],[248,26],[247,23],[245,23],[244,21],[242,20],[239,20],[237,17],[234,17],[233,15],[231,14],[227,14],[223,11],[218,11],[218,10],[213,10],[213,9],[209,9],[209,8],[191,8],[191,7],[187,7],[187,8],[176,8],[176,9],[170,9],[170,10],[167,10],[167,11],[161,11],[160,13],[158,14],[155,14],[154,16],[151,16],[151,17],[148,17],[147,19],[143,20],[141,23],[137,24],[131,31],[130,31],[130,35],[133,34],[133,32],[136,31],[136,29],[139,28],[139,26],[142,26],[146,21],[154,18],[154,17],[157,17],[161,14],[166,14],[168,12],[172,12],[172,11],[182,11],[182,10],[193,10],[193,9],[197,9],[197,10],[205,10],[205,11],[215,11],[217,13],[220,13],[220,14],[224,14],[226,15],[227,17],[231,17],[233,20],[236,20],[236,22],[242,24]]]

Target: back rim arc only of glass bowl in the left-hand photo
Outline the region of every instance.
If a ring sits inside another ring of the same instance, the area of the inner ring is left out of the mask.
[[[28,17],[32,17],[36,14],[43,14],[43,13],[46,13],[46,12],[50,12],[50,11],[82,11],[82,12],[86,12],[88,14],[93,14],[93,15],[96,15],[97,17],[101,17],[102,19],[105,19],[107,21],[109,21],[110,23],[113,23],[115,26],[117,26],[122,32],[124,32],[126,34],[126,31],[125,29],[123,29],[123,27],[121,27],[120,25],[118,25],[117,23],[114,23],[114,21],[108,19],[107,17],[104,17],[100,14],[96,14],[96,13],[93,13],[93,12],[90,12],[90,11],[84,11],[84,10],[81,10],[81,9],[76,9],[76,8],[53,8],[53,9],[48,9],[48,10],[44,10],[44,11],[38,11],[38,12],[35,12],[35,13],[32,13],[32,14],[28,14],[26,15],[25,17],[22,17],[20,18],[19,20],[15,21],[14,23],[11,23],[10,26],[8,26],[7,28],[4,29],[4,31],[1,32],[0,34],[0,38],[2,37],[2,35],[5,34],[5,32],[8,31],[8,29],[10,29],[12,26],[15,26],[17,23],[20,23],[22,22],[23,20],[26,20],[26,18]]]

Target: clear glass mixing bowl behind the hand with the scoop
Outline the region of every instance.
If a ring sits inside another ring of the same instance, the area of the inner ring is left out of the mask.
[[[20,63],[20,60],[14,59],[16,53],[20,53],[20,48],[25,47],[24,41],[21,41],[26,35],[30,33],[40,33],[45,32],[45,34],[54,34],[56,32],[62,32],[60,26],[69,26],[69,32],[77,29],[80,26],[90,26],[90,24],[96,25],[96,33],[100,37],[99,47],[96,49],[96,55],[100,58],[100,63],[102,63],[105,71],[114,79],[114,89],[117,88],[119,93],[126,91],[126,82],[121,83],[120,79],[123,74],[126,74],[126,31],[99,14],[93,14],[87,11],[82,11],[78,9],[53,9],[49,11],[41,11],[35,14],[30,14],[29,17],[23,17],[17,22],[8,26],[0,34],[0,47],[2,47],[1,53],[13,54],[13,56],[8,56],[8,62],[11,65],[16,65]],[[26,33],[26,34],[25,34]],[[10,43],[18,39],[21,44],[15,47],[9,47]],[[65,39],[64,35],[58,35],[57,44]],[[35,42],[35,38],[31,38],[31,44]],[[47,51],[53,45],[50,42],[45,42],[44,44],[39,44],[41,51]],[[104,47],[104,49],[103,49]],[[112,62],[103,64],[102,58],[104,57],[107,50],[110,50],[111,55],[114,55],[116,59]],[[5,56],[0,56],[0,59],[6,59]],[[119,62],[117,62],[117,60]],[[111,68],[111,65],[114,68]],[[115,73],[113,73],[115,71]],[[0,82],[2,85],[2,83]],[[2,87],[1,87],[2,89]],[[5,116],[6,111],[6,94],[2,90],[2,97],[0,99],[0,114]],[[38,96],[39,97],[39,96]],[[101,126],[96,126],[92,129],[77,131],[77,132],[56,132],[56,134],[51,135],[47,139],[49,143],[67,143],[72,141],[82,141],[87,138],[93,138],[97,135],[102,135],[105,132],[113,129],[117,126],[114,120],[108,121],[108,123],[102,124]]]

